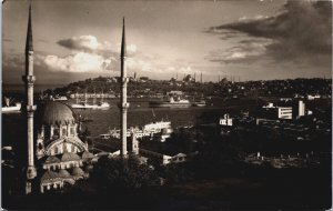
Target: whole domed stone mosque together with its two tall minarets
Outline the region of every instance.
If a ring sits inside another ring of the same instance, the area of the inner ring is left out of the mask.
[[[121,48],[121,103],[119,104],[122,118],[121,151],[122,158],[127,157],[127,72],[125,72],[125,42],[124,26]],[[85,179],[93,168],[97,157],[88,150],[88,143],[78,135],[79,123],[75,113],[68,104],[59,101],[47,101],[33,104],[33,44],[31,27],[31,6],[29,7],[29,21],[26,42],[26,111],[28,121],[28,163],[26,193],[40,190],[62,189],[65,184],[74,184],[77,180]],[[36,123],[34,123],[36,114]],[[34,127],[37,125],[37,127]],[[34,138],[36,137],[36,138]],[[135,141],[135,147],[138,145]],[[138,151],[138,150],[137,150]]]

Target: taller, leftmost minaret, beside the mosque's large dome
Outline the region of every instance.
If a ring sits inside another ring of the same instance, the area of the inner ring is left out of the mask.
[[[28,120],[28,167],[27,167],[27,187],[26,192],[31,192],[31,179],[36,178],[37,172],[33,161],[33,112],[36,105],[33,105],[33,82],[36,77],[33,76],[33,47],[32,47],[32,27],[31,27],[31,4],[29,6],[29,21],[26,42],[26,76],[22,77],[26,84],[27,93],[27,120]]]

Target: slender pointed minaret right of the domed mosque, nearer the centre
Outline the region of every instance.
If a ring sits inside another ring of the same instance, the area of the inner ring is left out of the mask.
[[[120,154],[122,158],[127,157],[127,131],[128,131],[128,108],[130,103],[128,103],[128,78],[127,78],[127,67],[125,67],[125,59],[127,59],[127,43],[125,43],[125,27],[124,27],[124,18],[122,23],[122,40],[121,40],[121,52],[120,52],[120,63],[121,63],[121,79],[120,79],[120,112],[121,112],[121,151]]]

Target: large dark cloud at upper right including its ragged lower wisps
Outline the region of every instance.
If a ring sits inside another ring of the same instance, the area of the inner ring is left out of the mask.
[[[273,40],[265,46],[265,54],[275,60],[296,59],[312,63],[325,62],[329,66],[331,63],[325,57],[332,53],[331,1],[287,1],[275,16],[242,19],[213,27],[210,32],[221,33],[225,39],[224,37],[232,36],[228,30],[244,32],[253,38]],[[246,47],[249,43],[251,47],[251,43],[253,46],[255,42],[255,40],[242,40],[238,48],[243,48],[244,44]]]

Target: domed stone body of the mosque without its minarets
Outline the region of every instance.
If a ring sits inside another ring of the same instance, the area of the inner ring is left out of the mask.
[[[40,108],[36,158],[40,192],[89,177],[95,158],[78,137],[78,121],[69,105],[48,101]]]

